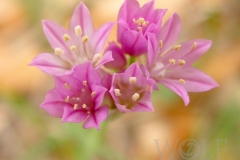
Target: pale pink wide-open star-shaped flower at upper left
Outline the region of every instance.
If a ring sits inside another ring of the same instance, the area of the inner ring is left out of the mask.
[[[69,30],[49,20],[43,21],[44,33],[55,51],[38,55],[30,65],[51,75],[70,74],[81,63],[92,61],[95,68],[112,61],[111,52],[101,54],[113,23],[95,30],[87,7],[80,3],[71,18]]]

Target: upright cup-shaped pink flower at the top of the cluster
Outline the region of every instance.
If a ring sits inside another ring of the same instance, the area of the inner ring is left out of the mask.
[[[138,56],[147,52],[147,34],[159,35],[165,9],[154,10],[154,0],[140,8],[136,0],[125,0],[118,14],[118,41],[124,52]]]

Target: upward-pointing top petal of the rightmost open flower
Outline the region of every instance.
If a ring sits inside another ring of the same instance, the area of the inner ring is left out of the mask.
[[[162,40],[163,42],[163,46],[161,48],[162,52],[170,49],[174,45],[180,32],[180,28],[180,17],[174,13],[172,17],[163,25],[160,35],[157,38],[159,41]]]

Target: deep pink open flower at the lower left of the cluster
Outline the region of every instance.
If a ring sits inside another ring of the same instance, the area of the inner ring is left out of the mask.
[[[101,106],[107,89],[91,62],[76,66],[72,75],[55,76],[54,80],[55,88],[47,93],[41,107],[62,122],[84,121],[83,128],[99,130],[108,115],[108,107]]]

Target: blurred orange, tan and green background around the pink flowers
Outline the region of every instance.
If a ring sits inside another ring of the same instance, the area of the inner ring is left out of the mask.
[[[185,107],[181,98],[160,86],[152,97],[155,112],[108,119],[100,131],[84,130],[82,124],[62,124],[40,109],[45,94],[54,87],[53,79],[28,66],[39,53],[52,52],[41,20],[50,19],[67,28],[79,2],[0,0],[1,160],[187,159],[181,149],[197,160],[239,159],[239,0],[156,0],[155,8],[169,9],[164,21],[174,12],[180,15],[179,42],[195,38],[213,41],[195,67],[220,87],[190,93],[190,104]],[[84,2],[97,28],[116,21],[123,0]],[[112,40],[116,40],[116,26],[109,37]],[[198,147],[181,146],[188,139]]]

